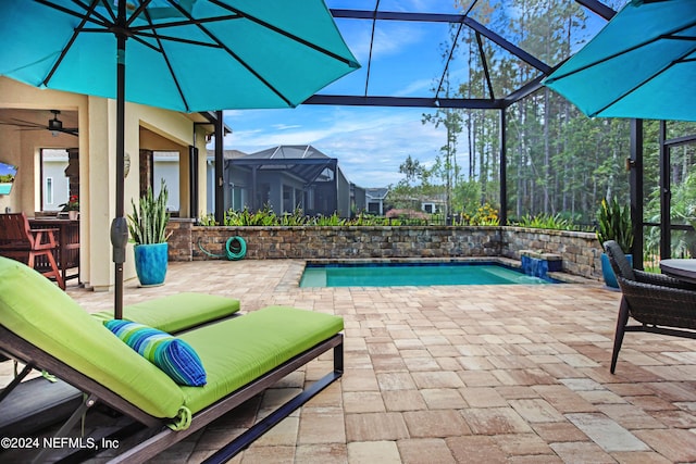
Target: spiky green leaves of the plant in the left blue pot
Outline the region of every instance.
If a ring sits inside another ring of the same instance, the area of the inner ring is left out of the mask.
[[[152,188],[148,187],[144,197],[140,197],[138,205],[130,199],[133,214],[128,214],[128,231],[136,244],[164,243],[170,234],[166,234],[166,224],[170,222],[170,213],[166,211],[169,191],[164,179],[160,193],[154,197]]]

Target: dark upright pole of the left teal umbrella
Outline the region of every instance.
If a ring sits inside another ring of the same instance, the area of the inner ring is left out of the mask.
[[[117,21],[124,25],[125,9],[126,2],[119,1]],[[123,263],[126,261],[128,242],[128,225],[124,217],[126,36],[123,33],[116,33],[116,214],[111,223],[111,244],[115,271],[114,318],[120,319],[123,315]]]

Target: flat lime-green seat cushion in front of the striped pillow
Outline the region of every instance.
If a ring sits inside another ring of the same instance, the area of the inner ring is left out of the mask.
[[[182,387],[185,404],[200,411],[343,328],[339,316],[269,306],[182,334],[208,373],[206,386]]]

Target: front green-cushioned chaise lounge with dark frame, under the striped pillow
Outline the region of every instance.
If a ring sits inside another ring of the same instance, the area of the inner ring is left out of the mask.
[[[0,352],[87,393],[67,424],[101,402],[152,430],[115,462],[157,455],[333,349],[333,371],[212,456],[225,461],[340,377],[341,330],[341,317],[286,306],[202,325],[178,338],[197,352],[208,383],[181,386],[40,274],[0,258]]]

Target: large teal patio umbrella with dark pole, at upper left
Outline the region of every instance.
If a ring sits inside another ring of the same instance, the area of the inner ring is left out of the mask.
[[[116,99],[116,317],[128,234],[124,102],[291,108],[359,67],[322,0],[1,0],[0,17],[0,75]]]

